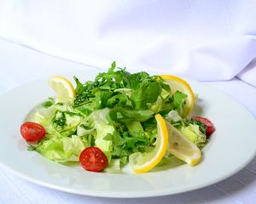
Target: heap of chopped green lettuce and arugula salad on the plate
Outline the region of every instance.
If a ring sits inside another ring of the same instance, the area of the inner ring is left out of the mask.
[[[44,127],[42,139],[27,139],[22,132],[24,124],[20,127],[22,136],[30,144],[28,150],[35,150],[51,161],[80,161],[83,167],[83,162],[89,165],[99,162],[104,166],[99,171],[120,170],[131,162],[134,154],[148,156],[150,162],[154,157],[150,152],[154,151],[160,132],[155,119],[157,114],[189,140],[189,145],[194,144],[199,150],[214,131],[206,118],[189,118],[187,113],[184,116],[188,94],[182,90],[173,92],[172,85],[166,83],[164,77],[150,76],[145,71],[130,73],[113,62],[108,71],[99,73],[93,81],[73,79],[75,86],[72,89],[68,85],[69,95],[63,98],[65,92],[62,96],[59,93],[56,98],[44,101],[35,112],[33,122]],[[26,126],[26,131],[29,128],[32,127]],[[169,133],[168,137],[172,135]],[[96,149],[90,149],[81,158],[82,152],[92,147]],[[170,149],[169,146],[154,167],[172,163],[176,156]],[[107,159],[104,157],[103,161],[101,157],[101,161],[97,161],[97,154],[102,153]],[[182,156],[177,157],[186,161]],[[87,170],[98,171],[93,167]]]

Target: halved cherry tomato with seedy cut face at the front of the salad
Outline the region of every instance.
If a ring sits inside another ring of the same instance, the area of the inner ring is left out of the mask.
[[[100,172],[107,167],[108,159],[100,148],[87,147],[79,156],[79,161],[85,170]]]

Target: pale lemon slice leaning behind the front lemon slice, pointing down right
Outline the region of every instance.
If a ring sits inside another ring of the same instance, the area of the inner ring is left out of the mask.
[[[187,139],[183,133],[173,127],[171,123],[166,122],[169,133],[169,150],[172,155],[177,156],[180,160],[185,161],[190,166],[195,166],[201,161],[201,150]]]

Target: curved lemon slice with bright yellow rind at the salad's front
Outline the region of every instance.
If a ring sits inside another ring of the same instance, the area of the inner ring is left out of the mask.
[[[148,153],[136,152],[129,156],[129,163],[135,173],[146,173],[154,168],[165,156],[168,148],[168,132],[166,122],[160,114],[155,115],[157,122],[157,138],[154,150]]]

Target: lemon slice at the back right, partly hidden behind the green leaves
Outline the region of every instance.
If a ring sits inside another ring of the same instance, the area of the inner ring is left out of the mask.
[[[172,75],[160,75],[160,77],[162,77],[162,79],[165,80],[165,83],[170,86],[172,94],[178,90],[183,94],[188,95],[188,97],[185,99],[183,113],[181,114],[183,117],[188,116],[192,111],[195,103],[195,95],[189,83],[180,77],[175,77]]]

